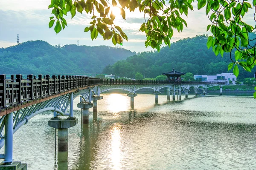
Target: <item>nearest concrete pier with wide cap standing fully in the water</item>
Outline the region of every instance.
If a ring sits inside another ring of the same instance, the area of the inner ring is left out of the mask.
[[[58,151],[66,152],[68,151],[68,128],[76,126],[78,123],[77,118],[51,118],[48,121],[49,127],[58,129]]]

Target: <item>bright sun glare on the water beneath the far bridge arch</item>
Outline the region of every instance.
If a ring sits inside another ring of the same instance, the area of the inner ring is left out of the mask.
[[[120,94],[111,94],[108,97],[108,109],[114,116],[119,116],[120,111],[128,110],[127,98]]]

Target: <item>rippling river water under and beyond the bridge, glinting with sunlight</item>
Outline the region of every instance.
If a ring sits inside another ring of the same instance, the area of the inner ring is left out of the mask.
[[[98,118],[69,129],[68,153],[55,153],[51,112],[32,118],[14,135],[14,159],[28,170],[254,170],[256,105],[253,97],[207,95],[166,101],[102,94]],[[79,102],[75,99],[74,106]],[[1,150],[3,153],[3,150]]]

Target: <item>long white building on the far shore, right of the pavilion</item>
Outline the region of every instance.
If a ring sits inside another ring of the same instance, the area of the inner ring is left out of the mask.
[[[226,81],[229,84],[229,81],[232,81],[232,84],[235,84],[236,76],[233,73],[221,73],[217,75],[194,75],[195,80],[197,81]]]

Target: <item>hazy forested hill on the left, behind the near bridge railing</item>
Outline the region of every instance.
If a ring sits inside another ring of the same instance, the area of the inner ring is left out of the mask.
[[[105,66],[136,54],[110,46],[52,46],[36,40],[0,48],[0,74],[102,72]]]

